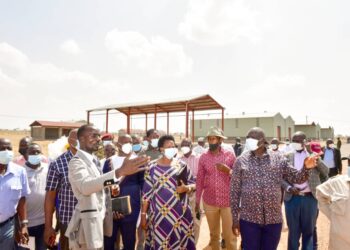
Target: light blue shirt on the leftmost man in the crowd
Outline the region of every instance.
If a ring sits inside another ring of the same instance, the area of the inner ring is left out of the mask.
[[[0,223],[16,214],[18,201],[28,194],[25,168],[10,162],[5,175],[0,175]]]

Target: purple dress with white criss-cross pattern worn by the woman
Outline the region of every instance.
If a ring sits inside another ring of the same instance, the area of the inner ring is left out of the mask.
[[[145,250],[196,249],[188,196],[180,200],[176,192],[176,177],[182,167],[186,168],[187,184],[194,184],[185,163],[176,160],[171,166],[154,163],[145,173],[142,194],[149,202]]]

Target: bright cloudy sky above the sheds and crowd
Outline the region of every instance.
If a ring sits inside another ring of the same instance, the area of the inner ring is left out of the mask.
[[[350,135],[349,9],[346,0],[0,0],[0,128],[210,94],[226,114],[281,112]],[[103,116],[91,121],[103,129]],[[184,131],[183,117],[171,122]],[[125,124],[111,115],[111,130]]]

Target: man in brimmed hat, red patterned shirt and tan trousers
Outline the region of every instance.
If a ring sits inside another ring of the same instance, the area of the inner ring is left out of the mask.
[[[207,134],[209,150],[201,155],[196,181],[196,212],[203,195],[203,205],[210,230],[210,246],[220,249],[220,224],[226,249],[237,249],[237,238],[232,234],[230,208],[230,180],[236,157],[221,147],[226,139],[221,129],[211,127]],[[220,223],[221,220],[221,223]]]

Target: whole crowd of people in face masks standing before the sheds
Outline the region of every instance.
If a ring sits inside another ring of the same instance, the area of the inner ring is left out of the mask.
[[[188,138],[177,145],[155,129],[114,138],[83,125],[70,132],[67,151],[49,162],[30,137],[20,141],[17,158],[0,138],[0,249],[20,249],[29,236],[35,249],[54,248],[59,233],[63,250],[191,250],[205,215],[211,249],[272,250],[283,203],[288,250],[300,240],[302,249],[317,249],[318,208],[330,215],[327,204],[335,200],[329,198],[335,191],[327,194],[330,188],[320,184],[342,172],[333,141],[321,148],[299,131],[280,149],[261,128],[250,129],[244,145],[226,139],[217,127],[194,146]],[[96,154],[101,145],[103,154]],[[113,205],[124,197],[127,214]]]

